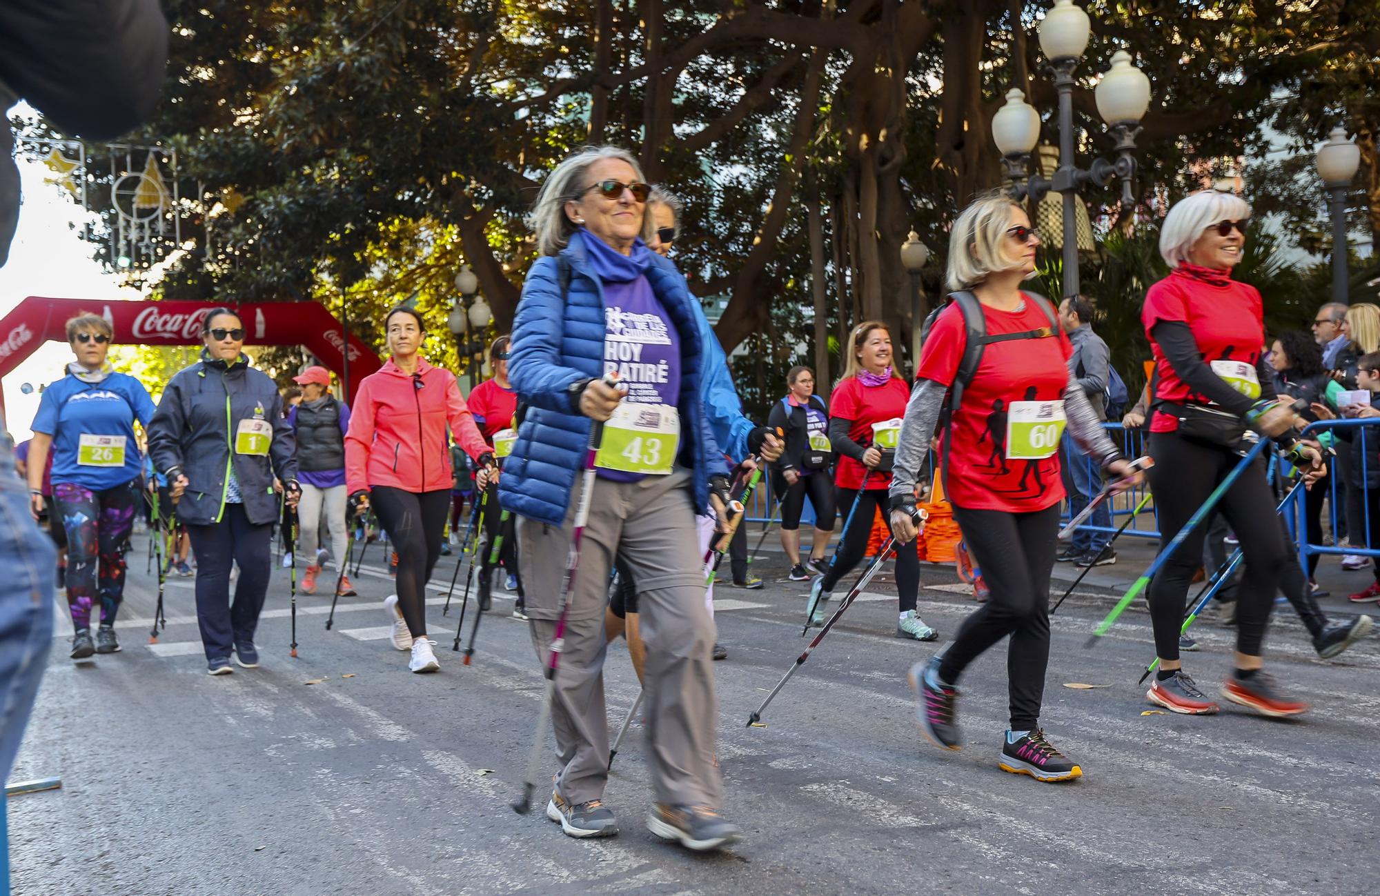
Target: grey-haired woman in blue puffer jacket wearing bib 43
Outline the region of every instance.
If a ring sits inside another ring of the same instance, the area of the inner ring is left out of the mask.
[[[740,833],[719,815],[715,626],[704,605],[694,517],[708,513],[711,478],[716,495],[727,493],[729,470],[705,409],[697,301],[675,266],[646,244],[649,193],[636,159],[611,146],[566,159],[541,187],[530,219],[541,258],[523,285],[508,358],[527,412],[500,498],[520,517],[519,565],[542,663],[562,618],[575,503],[589,507],[580,573],[566,595],[551,709],[562,768],[546,816],[570,837],[618,833],[603,805],[603,616],[618,558],[636,583],[647,644],[656,798],[647,827],[690,849],[715,849]],[[620,389],[603,380],[609,374]],[[595,420],[603,423],[598,478],[580,496],[577,474]]]

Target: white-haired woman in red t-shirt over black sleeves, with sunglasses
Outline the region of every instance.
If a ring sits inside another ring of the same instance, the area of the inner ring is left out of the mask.
[[[1150,422],[1150,455],[1155,459],[1150,484],[1165,544],[1236,466],[1248,429],[1296,448],[1294,465],[1305,470],[1310,484],[1326,471],[1312,447],[1290,437],[1299,418],[1288,403],[1276,404],[1263,352],[1267,340],[1260,292],[1231,278],[1249,223],[1250,205],[1245,200],[1203,190],[1170,208],[1159,233],[1159,254],[1172,270],[1145,294],[1141,323],[1158,374]],[[1265,715],[1297,715],[1308,706],[1285,696],[1261,671],[1261,644],[1275,591],[1282,590],[1297,607],[1307,589],[1276,520],[1265,463],[1242,473],[1217,506],[1246,556],[1236,598],[1234,671],[1221,695]],[[1201,527],[1188,536],[1147,594],[1159,669],[1145,696],[1188,715],[1217,711],[1179,660],[1184,598],[1202,557],[1205,533]]]

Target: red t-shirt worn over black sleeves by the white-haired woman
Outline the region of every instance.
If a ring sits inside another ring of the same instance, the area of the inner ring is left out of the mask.
[[[1151,335],[1155,324],[1176,321],[1188,324],[1194,342],[1203,356],[1203,363],[1241,361],[1252,368],[1260,361],[1265,340],[1264,306],[1260,292],[1235,280],[1201,280],[1184,270],[1174,269],[1167,277],[1145,292],[1145,306],[1140,320],[1145,325],[1145,338],[1155,357],[1158,386],[1155,397],[1183,404],[1208,404],[1208,398],[1192,391],[1179,379],[1174,368],[1165,360],[1165,353]],[[1156,412],[1150,422],[1152,433],[1172,433],[1179,429],[1179,420],[1167,414]]]

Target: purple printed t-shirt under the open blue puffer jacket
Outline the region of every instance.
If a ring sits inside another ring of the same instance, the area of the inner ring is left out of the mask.
[[[604,372],[618,372],[628,385],[624,401],[680,401],[680,335],[646,277],[604,281]],[[635,482],[640,473],[599,469],[615,482]]]

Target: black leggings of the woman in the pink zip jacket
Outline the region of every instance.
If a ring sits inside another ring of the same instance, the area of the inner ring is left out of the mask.
[[[407,492],[374,485],[370,503],[397,551],[397,609],[414,638],[426,637],[426,582],[431,579],[450,513],[450,489]]]

